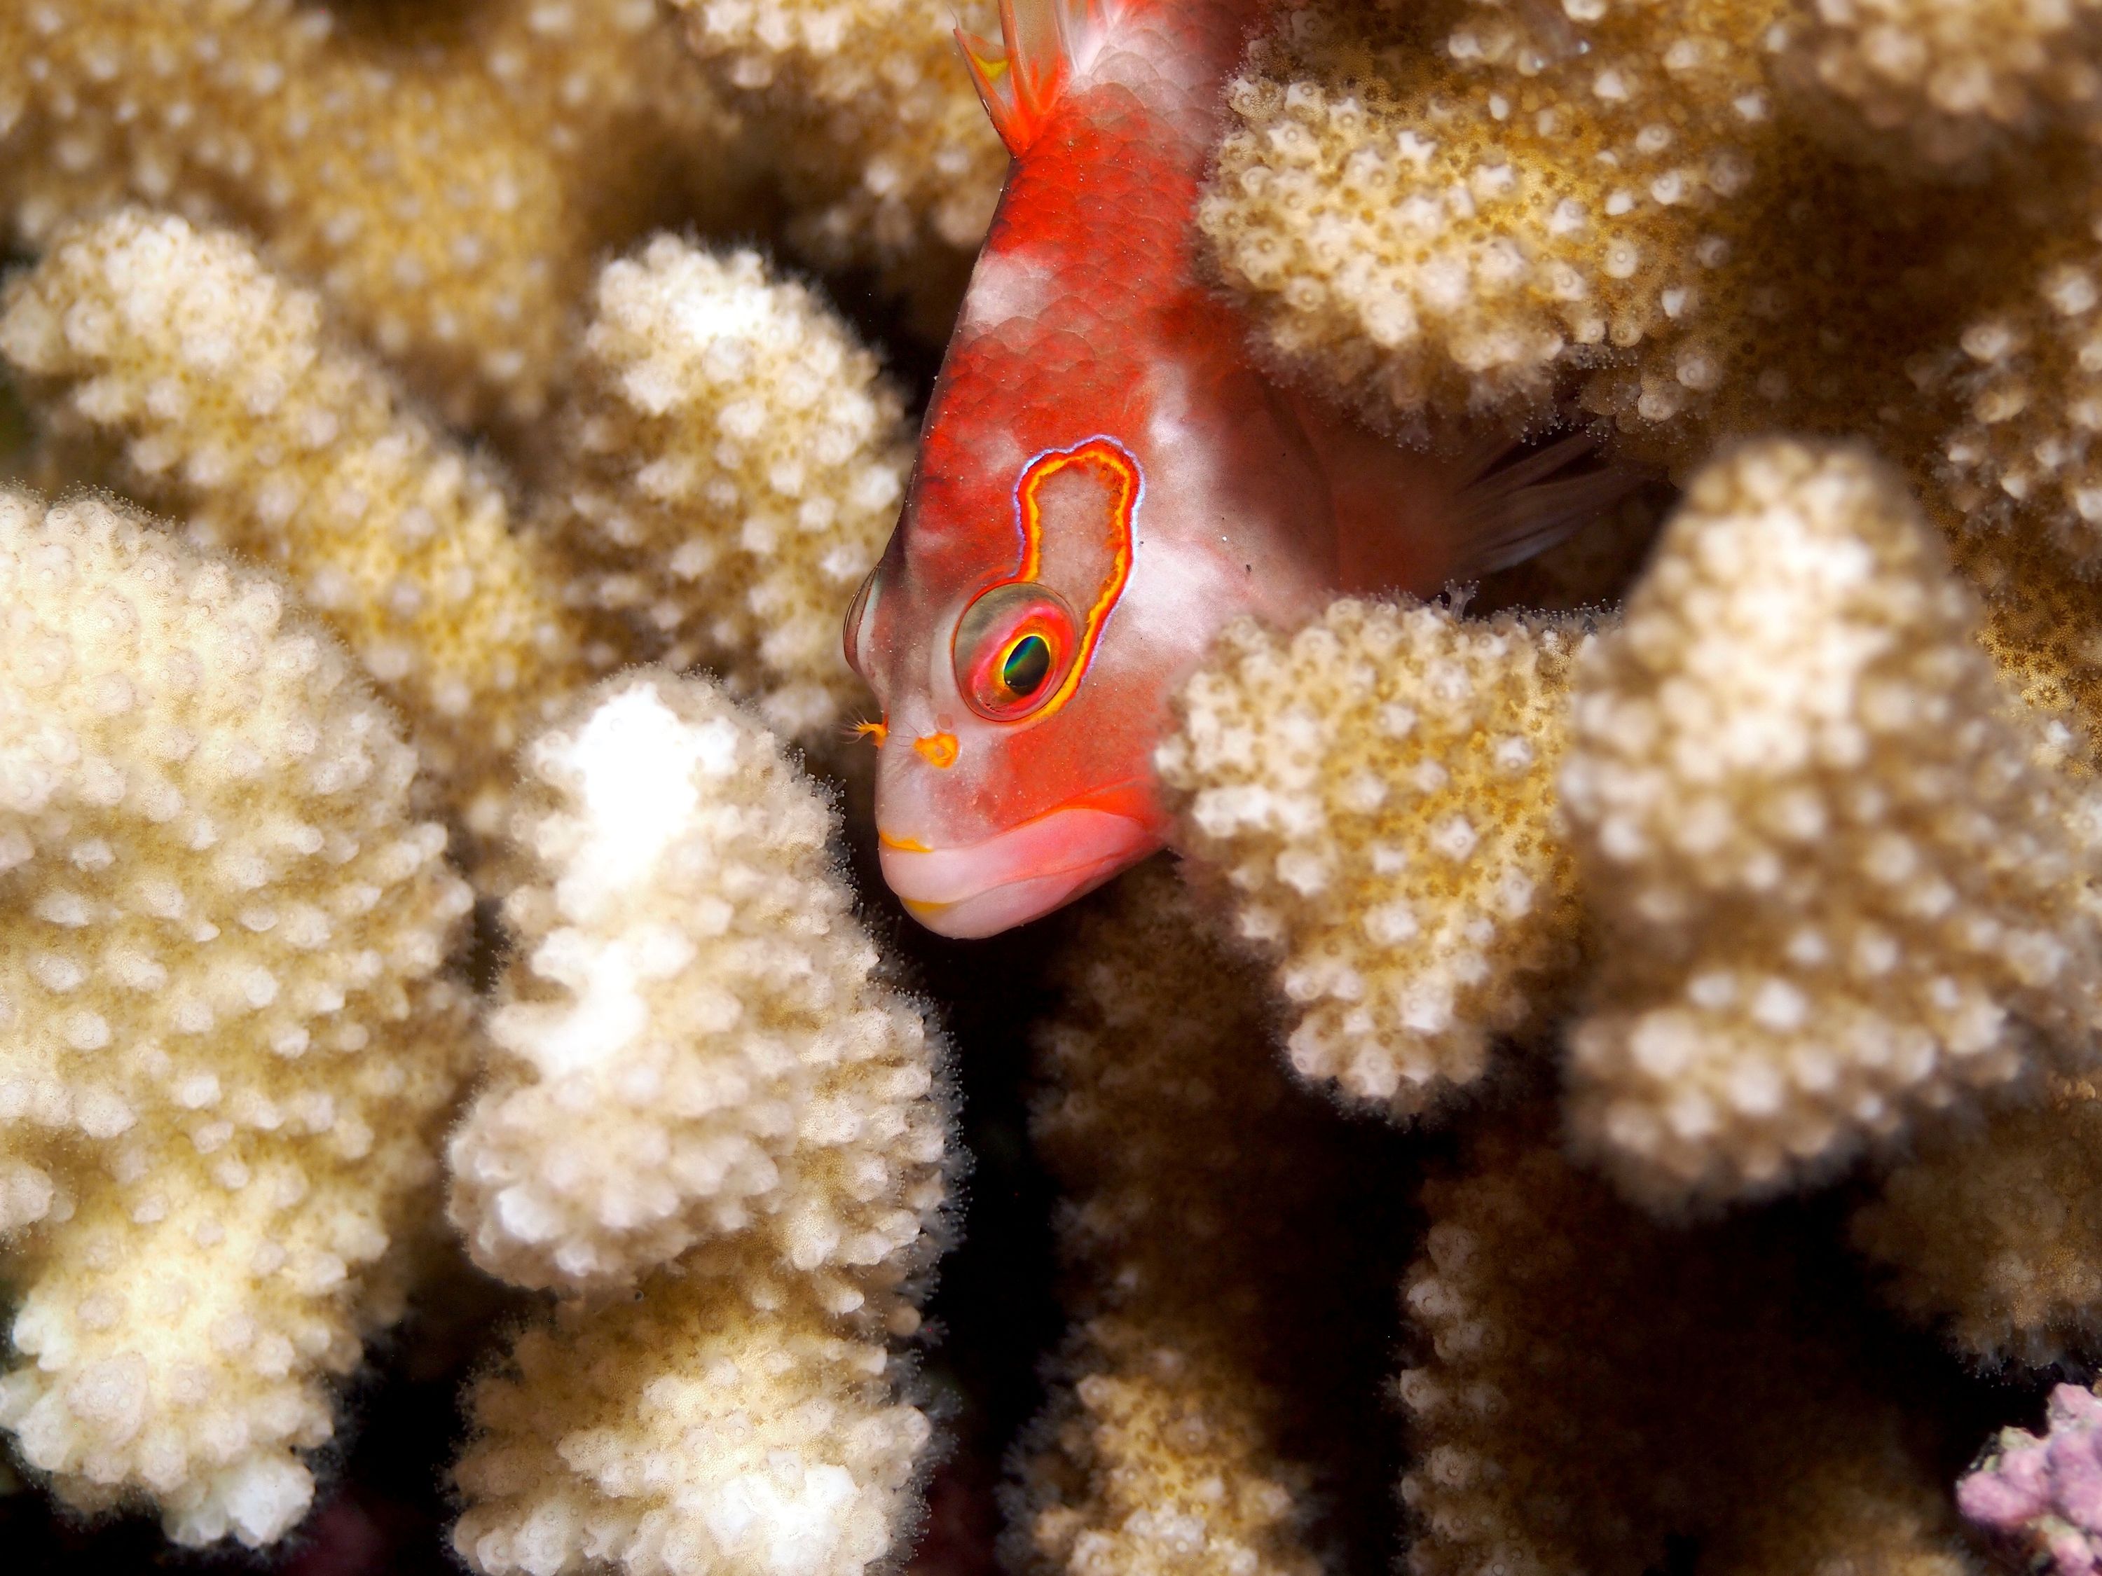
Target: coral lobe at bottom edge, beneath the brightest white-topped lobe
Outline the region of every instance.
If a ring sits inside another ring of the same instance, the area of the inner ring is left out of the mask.
[[[931,1435],[891,1368],[763,1259],[565,1307],[471,1393],[454,1549],[483,1576],[860,1576]]]

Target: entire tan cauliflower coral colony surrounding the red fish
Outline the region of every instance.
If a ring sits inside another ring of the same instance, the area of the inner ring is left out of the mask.
[[[837,635],[954,21],[0,4],[0,1563],[2102,1568],[2102,17],[1272,8],[1259,359],[1648,485],[971,948]]]

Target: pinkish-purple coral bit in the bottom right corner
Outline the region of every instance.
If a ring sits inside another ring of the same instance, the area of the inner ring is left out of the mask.
[[[2091,1576],[2102,1568],[2102,1399],[2052,1391],[2049,1431],[2001,1429],[1957,1484],[1963,1515],[2031,1555],[2031,1570]]]

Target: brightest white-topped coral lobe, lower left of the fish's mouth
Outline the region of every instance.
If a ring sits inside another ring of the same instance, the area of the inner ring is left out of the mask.
[[[452,1141],[452,1210],[521,1286],[620,1284],[759,1231],[801,1271],[910,1261],[942,1202],[935,1042],[877,981],[830,805],[717,689],[593,691],[526,754],[500,1055]]]

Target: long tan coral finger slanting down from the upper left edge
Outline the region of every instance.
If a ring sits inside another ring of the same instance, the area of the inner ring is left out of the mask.
[[[0,355],[61,431],[200,540],[282,565],[408,714],[477,832],[509,754],[589,677],[561,569],[513,532],[498,475],[334,340],[248,242],[122,210],[15,279]]]

